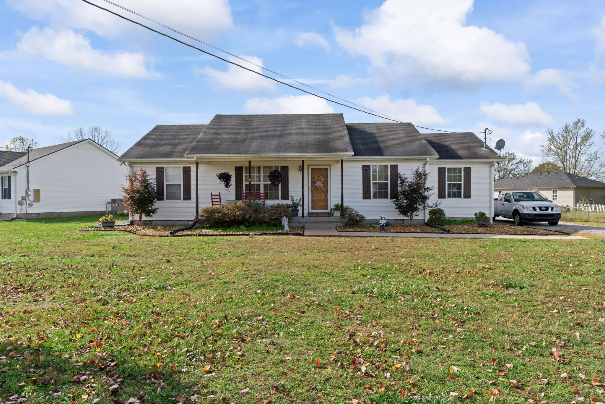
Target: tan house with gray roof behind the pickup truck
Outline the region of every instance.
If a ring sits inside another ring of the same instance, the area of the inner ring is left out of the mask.
[[[494,181],[494,197],[504,190],[538,191],[560,206],[575,206],[582,202],[605,204],[605,182],[563,171]]]

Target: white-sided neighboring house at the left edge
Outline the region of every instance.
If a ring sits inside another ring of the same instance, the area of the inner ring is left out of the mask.
[[[128,173],[116,158],[90,139],[34,148],[29,154],[0,151],[0,216],[104,214],[106,202],[120,197]]]

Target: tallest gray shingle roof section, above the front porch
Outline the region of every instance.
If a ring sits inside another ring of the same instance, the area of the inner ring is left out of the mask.
[[[185,154],[352,154],[342,114],[215,115]]]

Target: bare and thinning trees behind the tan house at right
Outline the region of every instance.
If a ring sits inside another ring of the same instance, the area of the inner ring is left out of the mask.
[[[507,151],[502,154],[504,160],[495,166],[494,180],[557,171],[603,180],[605,161],[601,159],[597,135],[586,126],[584,119],[576,119],[557,131],[549,128],[546,130],[546,142],[540,145],[540,164],[534,167],[532,159],[523,159],[513,151]],[[605,132],[601,137],[605,140]]]

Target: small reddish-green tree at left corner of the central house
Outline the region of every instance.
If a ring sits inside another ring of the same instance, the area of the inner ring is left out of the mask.
[[[157,212],[155,205],[155,184],[149,180],[145,168],[126,174],[126,185],[122,185],[123,204],[128,207],[131,220],[139,215],[139,224],[142,224],[143,214],[152,216]]]

